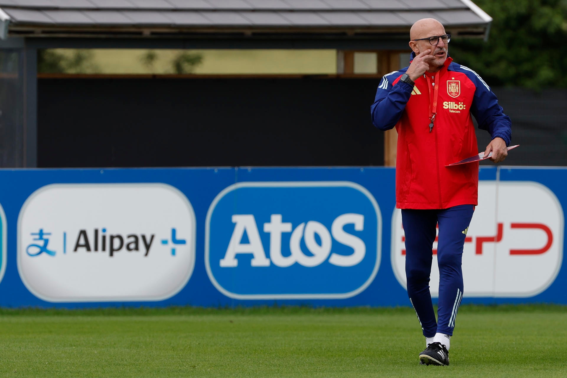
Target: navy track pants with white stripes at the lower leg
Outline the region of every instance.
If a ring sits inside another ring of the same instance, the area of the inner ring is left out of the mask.
[[[463,299],[463,246],[471,223],[473,205],[441,210],[401,210],[405,231],[405,275],[408,296],[416,309],[425,337],[436,332],[453,334],[455,317]],[[433,242],[437,224],[437,264],[439,266],[438,321],[429,292]]]

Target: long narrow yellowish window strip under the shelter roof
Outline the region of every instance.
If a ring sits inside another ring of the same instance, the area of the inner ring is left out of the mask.
[[[40,50],[38,73],[336,74],[336,50]]]

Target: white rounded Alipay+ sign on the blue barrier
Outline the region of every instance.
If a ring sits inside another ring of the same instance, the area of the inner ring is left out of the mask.
[[[18,218],[18,271],[52,302],[164,300],[195,262],[191,203],[166,184],[53,184]]]

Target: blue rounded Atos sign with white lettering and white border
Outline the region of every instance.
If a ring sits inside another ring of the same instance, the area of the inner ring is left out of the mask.
[[[231,185],[207,215],[207,273],[236,299],[349,298],[378,271],[381,223],[353,182]]]

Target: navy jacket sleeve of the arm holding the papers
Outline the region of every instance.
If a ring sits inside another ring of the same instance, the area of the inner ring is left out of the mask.
[[[460,68],[476,85],[471,113],[475,116],[479,129],[487,130],[492,139],[498,137],[504,139],[506,146],[509,146],[512,139],[510,117],[504,114],[494,92],[475,71],[465,66],[460,66]]]

